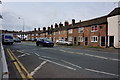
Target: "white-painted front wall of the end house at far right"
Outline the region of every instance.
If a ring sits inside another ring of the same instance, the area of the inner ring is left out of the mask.
[[[114,36],[114,47],[120,48],[120,15],[107,18],[108,21],[108,36]],[[109,39],[108,39],[109,45]]]

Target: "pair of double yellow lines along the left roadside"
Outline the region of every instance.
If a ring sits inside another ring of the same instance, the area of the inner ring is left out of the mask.
[[[22,63],[18,60],[18,58],[13,54],[13,52],[10,49],[7,49],[7,52],[14,62],[15,67],[17,68],[18,72],[20,73],[23,80],[34,80],[33,77],[30,75],[30,73],[25,69],[25,67],[22,65]]]

